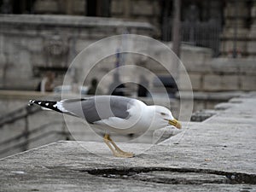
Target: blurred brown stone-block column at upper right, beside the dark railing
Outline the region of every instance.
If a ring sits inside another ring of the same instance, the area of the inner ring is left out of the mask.
[[[237,57],[247,55],[247,19],[249,18],[249,13],[247,1],[226,1],[226,7],[224,8],[224,29],[221,34],[221,55],[232,57],[234,44],[236,44]]]

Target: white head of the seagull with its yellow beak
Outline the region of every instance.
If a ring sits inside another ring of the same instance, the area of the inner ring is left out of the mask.
[[[157,122],[160,125],[173,125],[175,126],[177,129],[181,129],[182,125],[180,124],[180,122],[177,121],[177,119],[175,119],[172,116],[172,112],[165,107],[162,106],[154,106],[155,107],[155,119],[157,119]]]

